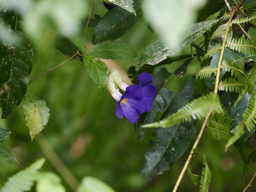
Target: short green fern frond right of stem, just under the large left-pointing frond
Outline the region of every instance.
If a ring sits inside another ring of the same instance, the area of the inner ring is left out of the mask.
[[[219,140],[223,138],[228,140],[231,137],[229,126],[212,120],[208,121],[207,133],[211,137]]]

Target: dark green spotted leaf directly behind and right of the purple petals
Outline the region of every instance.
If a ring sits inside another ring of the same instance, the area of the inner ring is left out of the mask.
[[[163,112],[174,98],[174,92],[168,91],[165,88],[165,83],[171,75],[172,74],[168,73],[165,68],[158,69],[156,73],[152,74],[152,84],[157,87],[156,97],[151,111],[145,115],[139,115],[139,120],[134,124],[136,132],[138,131],[140,124],[152,123],[156,117],[156,113]],[[138,141],[143,138],[145,130],[145,128],[141,130],[141,133],[138,136]]]

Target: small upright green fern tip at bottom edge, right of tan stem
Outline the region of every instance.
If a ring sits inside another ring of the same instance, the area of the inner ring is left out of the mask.
[[[208,164],[204,163],[205,167],[202,168],[201,179],[200,179],[200,190],[199,192],[207,192],[210,187],[211,172]]]

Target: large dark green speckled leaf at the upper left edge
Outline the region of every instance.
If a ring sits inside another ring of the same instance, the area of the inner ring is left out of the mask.
[[[18,37],[15,43],[0,42],[0,106],[2,118],[10,115],[24,98],[32,70],[33,47],[27,35],[20,31],[16,11],[5,15],[9,32]]]

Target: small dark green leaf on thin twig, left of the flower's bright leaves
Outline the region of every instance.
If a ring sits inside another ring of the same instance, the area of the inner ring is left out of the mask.
[[[78,51],[78,47],[74,44],[74,42],[71,39],[69,39],[68,37],[65,37],[65,36],[60,37],[56,41],[54,47],[55,47],[55,49],[60,51],[63,55],[67,55],[69,57],[72,57]],[[79,50],[79,54],[80,55],[77,54],[73,58],[82,62],[83,61],[83,56],[81,56],[82,52],[80,50]]]

